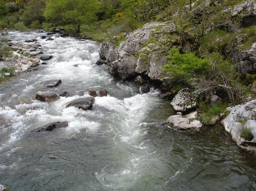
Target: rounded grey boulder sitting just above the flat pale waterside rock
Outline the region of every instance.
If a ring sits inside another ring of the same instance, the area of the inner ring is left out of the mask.
[[[171,105],[175,111],[187,112],[197,107],[197,96],[190,93],[188,88],[182,89],[173,98]]]

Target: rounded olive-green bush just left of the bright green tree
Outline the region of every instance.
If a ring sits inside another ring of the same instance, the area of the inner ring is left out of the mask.
[[[22,20],[25,25],[32,25],[37,28],[44,21],[44,7],[44,0],[30,0],[22,14]],[[39,22],[39,24],[35,22]]]

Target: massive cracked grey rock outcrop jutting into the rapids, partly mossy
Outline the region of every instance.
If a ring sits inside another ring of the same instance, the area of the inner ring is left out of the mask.
[[[122,80],[140,75],[158,80],[162,74],[162,65],[167,64],[165,56],[168,53],[158,42],[166,40],[162,34],[171,32],[175,32],[173,23],[148,23],[142,29],[128,34],[126,41],[121,42],[119,47],[102,43],[100,59],[107,62],[110,74]]]

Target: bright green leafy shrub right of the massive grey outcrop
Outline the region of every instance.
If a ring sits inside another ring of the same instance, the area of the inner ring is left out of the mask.
[[[164,65],[163,72],[169,73],[175,80],[207,74],[209,71],[209,59],[196,57],[195,53],[181,54],[178,49],[172,49],[167,59],[168,64]]]

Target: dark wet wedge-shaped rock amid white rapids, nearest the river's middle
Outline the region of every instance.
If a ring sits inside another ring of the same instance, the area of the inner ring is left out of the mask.
[[[83,110],[91,110],[93,108],[94,97],[82,97],[67,104],[66,108],[76,107]]]

